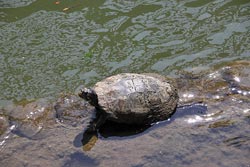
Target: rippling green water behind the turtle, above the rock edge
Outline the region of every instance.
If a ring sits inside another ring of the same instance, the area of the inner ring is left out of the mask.
[[[120,72],[174,75],[250,58],[247,0],[55,2],[0,9],[1,104]]]

